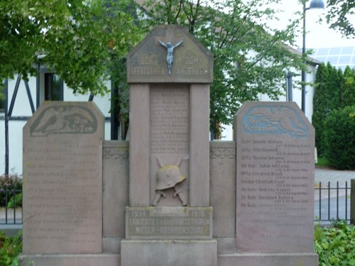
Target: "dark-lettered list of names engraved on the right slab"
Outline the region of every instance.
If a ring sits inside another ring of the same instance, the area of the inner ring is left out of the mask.
[[[260,139],[241,137],[237,146],[240,155],[239,214],[253,214],[250,222],[255,225],[307,226],[312,204],[311,145],[305,140],[271,135]],[[295,235],[265,233],[260,237],[288,238]]]

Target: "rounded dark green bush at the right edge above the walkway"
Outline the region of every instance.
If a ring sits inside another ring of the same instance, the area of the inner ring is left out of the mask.
[[[324,156],[340,170],[355,169],[355,105],[329,113],[324,123]]]

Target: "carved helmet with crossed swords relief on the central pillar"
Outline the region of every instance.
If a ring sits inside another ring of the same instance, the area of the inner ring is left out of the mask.
[[[182,161],[182,157],[179,157],[178,161],[175,162],[174,165],[165,165],[162,160],[157,156],[158,165],[160,169],[156,174],[157,185],[155,188],[155,198],[153,200],[152,205],[157,206],[158,201],[163,196],[166,197],[166,194],[162,192],[162,190],[173,188],[175,193],[173,197],[179,196],[180,201],[182,202],[182,206],[187,205],[187,201],[185,196],[182,194],[182,190],[177,187],[182,181],[186,179],[185,175],[182,174],[180,170],[180,165]]]

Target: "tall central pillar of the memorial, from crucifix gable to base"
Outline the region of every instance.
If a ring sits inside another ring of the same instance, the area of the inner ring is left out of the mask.
[[[209,206],[212,58],[180,26],[159,26],[127,57],[130,174],[121,265],[161,263],[153,255],[159,250],[175,265],[194,256],[195,265],[217,263]],[[204,249],[208,256],[197,255]]]

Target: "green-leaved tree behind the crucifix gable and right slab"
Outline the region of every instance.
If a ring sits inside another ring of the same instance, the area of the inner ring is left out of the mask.
[[[264,5],[272,2],[277,0],[148,0],[144,5],[146,28],[180,24],[212,51],[210,125],[214,133],[219,133],[215,125],[229,124],[245,101],[257,101],[259,94],[278,99],[285,70],[302,66],[302,58],[284,45],[293,42],[297,21],[284,31],[267,26],[266,21],[275,19],[275,11]]]

